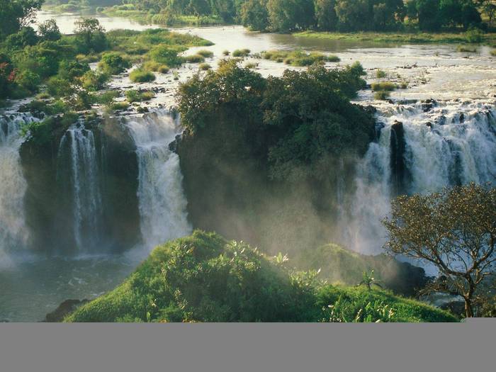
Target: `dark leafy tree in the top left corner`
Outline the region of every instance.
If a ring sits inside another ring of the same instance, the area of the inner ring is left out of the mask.
[[[0,0],[0,40],[28,26],[45,0]]]

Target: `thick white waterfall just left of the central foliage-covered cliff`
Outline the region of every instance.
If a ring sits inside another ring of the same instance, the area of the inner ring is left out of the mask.
[[[148,248],[191,232],[182,188],[179,156],[169,144],[181,132],[179,118],[167,111],[128,118],[136,145],[140,228]]]

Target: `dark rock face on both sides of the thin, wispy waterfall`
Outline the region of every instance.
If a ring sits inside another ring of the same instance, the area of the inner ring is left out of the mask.
[[[98,226],[101,239],[94,250],[120,252],[141,238],[135,145],[116,119],[93,118],[84,125],[94,135],[103,211],[103,226]],[[30,140],[21,146],[30,245],[40,252],[71,254],[75,247],[72,195],[64,192],[67,181],[57,180],[61,167],[57,154],[64,133],[54,130],[48,142]]]

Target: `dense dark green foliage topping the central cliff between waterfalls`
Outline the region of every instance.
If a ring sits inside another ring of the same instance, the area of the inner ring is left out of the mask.
[[[217,71],[181,84],[179,111],[190,133],[208,130],[208,123],[222,115],[243,118],[222,125],[244,136],[252,157],[269,164],[274,178],[303,169],[317,175],[323,159],[366,150],[371,118],[349,102],[365,85],[362,74],[360,64],[342,69],[317,65],[264,79],[227,60]]]

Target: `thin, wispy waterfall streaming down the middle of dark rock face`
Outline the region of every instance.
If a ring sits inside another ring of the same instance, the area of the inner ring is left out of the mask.
[[[74,242],[87,252],[101,242],[102,200],[94,135],[83,125],[69,128],[57,154],[57,184],[72,209]]]

